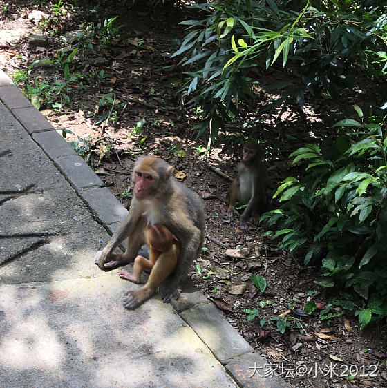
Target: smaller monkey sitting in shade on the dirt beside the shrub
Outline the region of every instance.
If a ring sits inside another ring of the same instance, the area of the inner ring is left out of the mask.
[[[267,170],[263,164],[265,151],[256,142],[247,142],[243,146],[242,163],[238,164],[238,176],[229,189],[229,208],[227,215],[232,220],[236,202],[247,204],[240,216],[240,229],[247,232],[247,221],[252,217],[258,222],[259,211],[266,204],[266,188],[269,183]]]

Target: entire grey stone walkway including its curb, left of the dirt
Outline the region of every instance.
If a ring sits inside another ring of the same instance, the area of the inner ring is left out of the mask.
[[[1,70],[0,118],[0,387],[287,387],[192,284],[124,309],[126,209]]]

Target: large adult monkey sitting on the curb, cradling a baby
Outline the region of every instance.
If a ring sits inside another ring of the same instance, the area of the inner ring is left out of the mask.
[[[145,242],[145,229],[155,224],[164,225],[176,236],[181,248],[176,269],[167,279],[162,279],[164,274],[160,260],[152,269],[153,278],[160,282],[164,302],[177,299],[180,295],[179,288],[189,267],[200,254],[205,226],[202,201],[187,186],[176,182],[172,171],[173,167],[167,162],[151,155],[142,156],[135,162],[132,175],[134,195],[129,215],[104,249],[95,256],[95,264],[102,270],[129,264]],[[128,244],[125,253],[114,253],[126,237]],[[140,295],[139,291],[124,295],[124,307],[135,309],[150,297]]]

